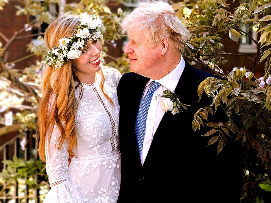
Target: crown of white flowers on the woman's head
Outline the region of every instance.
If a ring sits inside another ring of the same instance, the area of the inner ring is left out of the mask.
[[[69,39],[64,37],[59,39],[59,46],[54,46],[52,50],[48,50],[45,55],[45,63],[49,66],[55,64],[55,69],[61,68],[67,59],[79,58],[79,56],[86,52],[80,49],[86,47],[88,42],[93,39],[102,39],[103,23],[102,20],[95,14],[88,15],[84,12],[82,18],[79,19],[80,24],[77,26],[76,33]]]

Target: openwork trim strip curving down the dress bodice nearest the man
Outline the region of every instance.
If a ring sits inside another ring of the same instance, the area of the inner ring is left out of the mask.
[[[102,100],[101,96],[98,94],[98,91],[96,89],[96,87],[93,87],[93,91],[96,94],[96,96],[98,97],[99,101],[101,102],[102,106],[104,107],[107,115],[109,116],[110,119],[110,123],[111,123],[111,128],[112,128],[112,136],[110,138],[110,142],[111,142],[111,147],[112,147],[112,151],[115,151],[117,149],[117,145],[116,145],[116,137],[118,135],[118,124],[116,122],[116,120],[114,119],[115,116],[112,115],[112,113],[109,111],[109,108],[106,106],[106,104],[104,103],[104,101]]]

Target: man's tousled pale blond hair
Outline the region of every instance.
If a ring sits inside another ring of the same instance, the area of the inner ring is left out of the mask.
[[[190,39],[190,33],[174,9],[163,1],[141,2],[127,14],[120,25],[122,34],[137,31],[145,35],[152,48],[164,37],[172,40],[176,49],[184,51],[184,45]]]

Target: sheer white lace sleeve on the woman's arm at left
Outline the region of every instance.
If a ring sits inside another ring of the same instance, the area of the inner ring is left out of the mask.
[[[51,100],[53,98],[50,98],[49,110],[52,108],[51,104],[53,102]],[[46,135],[45,156],[46,172],[51,189],[46,194],[43,202],[82,202],[79,191],[68,178],[68,142],[64,142],[60,150],[58,150],[59,128],[57,125],[52,125],[50,128],[48,132],[52,132],[52,134],[51,136]]]

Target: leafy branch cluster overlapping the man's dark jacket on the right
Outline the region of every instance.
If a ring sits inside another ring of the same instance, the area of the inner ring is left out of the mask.
[[[227,80],[206,78],[198,86],[198,95],[201,99],[205,92],[212,98],[212,104],[199,109],[192,121],[194,131],[200,131],[200,126],[207,129],[202,136],[210,137],[208,145],[217,145],[217,153],[227,145],[228,137],[240,140],[244,148],[255,152],[253,156],[257,157],[257,161],[245,157],[245,161],[250,163],[246,170],[250,170],[251,165],[261,167],[257,177],[265,175],[267,178],[270,177],[271,164],[270,68],[270,65],[266,66],[266,74],[259,79],[255,79],[254,74],[245,68],[234,68],[225,77]],[[255,79],[254,82],[252,79]],[[216,117],[216,123],[208,122],[211,109],[215,109],[216,114],[218,107],[224,110],[228,120],[223,123]],[[255,194],[257,195],[256,191]]]

